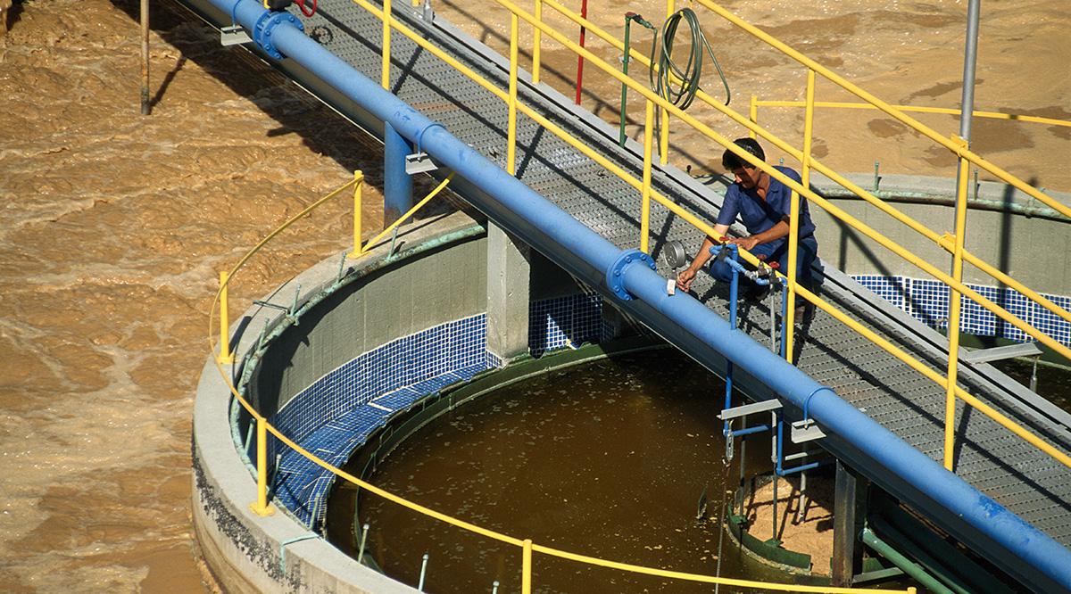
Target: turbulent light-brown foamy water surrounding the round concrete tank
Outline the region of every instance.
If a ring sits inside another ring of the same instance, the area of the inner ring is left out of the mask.
[[[436,2],[501,48],[508,19],[493,4]],[[959,102],[965,2],[727,5],[888,101]],[[619,32],[624,11],[657,22],[664,6],[594,0],[589,10]],[[353,169],[368,174],[367,202],[379,199],[375,142],[242,50],[220,47],[170,2],[153,2],[154,107],[139,116],[136,15],[133,0],[28,1],[0,36],[0,580],[9,591],[203,588],[191,554],[190,414],[217,273]],[[985,3],[977,107],[1071,118],[1069,26],[1062,0]],[[737,107],[751,94],[802,96],[799,67],[713,19],[708,32]],[[545,47],[547,80],[568,91],[575,60]],[[587,105],[614,120],[616,83],[590,66],[586,79]],[[828,89],[819,85],[819,98],[842,98]],[[800,113],[760,119],[799,137]],[[952,118],[922,119],[957,128]],[[823,113],[816,138],[819,157],[847,170],[871,170],[879,151],[884,171],[951,171],[946,156],[873,112]],[[975,124],[983,154],[1065,191],[1071,172],[1057,157],[1069,138],[1039,124]],[[674,143],[700,169],[711,165],[709,143],[694,134],[675,133]],[[232,310],[343,249],[344,202],[254,260],[236,280]],[[365,220],[379,226],[378,209]]]

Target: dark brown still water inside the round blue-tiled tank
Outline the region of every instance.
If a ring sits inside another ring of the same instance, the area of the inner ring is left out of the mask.
[[[723,464],[725,384],[674,350],[632,354],[499,389],[421,428],[372,481],[416,503],[540,545],[602,559],[750,579],[776,579],[724,538],[716,511],[738,467]],[[754,444],[749,468],[769,469]],[[764,460],[765,458],[765,460]],[[360,468],[349,469],[360,474]],[[333,497],[353,498],[336,488]],[[703,502],[703,503],[700,503]],[[333,508],[347,507],[333,502]],[[350,524],[340,514],[330,522]],[[713,518],[713,519],[712,519]],[[432,592],[519,588],[519,549],[463,533],[371,494],[360,523],[391,576],[416,585],[428,553]],[[340,543],[356,554],[357,545]],[[533,559],[538,592],[709,592],[710,584]]]

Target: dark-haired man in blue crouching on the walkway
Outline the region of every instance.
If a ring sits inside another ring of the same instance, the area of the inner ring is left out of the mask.
[[[766,153],[754,138],[738,138],[734,142],[760,161],[766,161]],[[725,151],[722,155],[722,165],[726,171],[733,173],[735,181],[725,193],[725,201],[722,203],[721,212],[718,213],[714,233],[723,237],[739,215],[749,235],[728,238],[726,243],[739,245],[756,257],[765,257],[767,262],[780,262],[779,270],[785,273],[788,270],[788,209],[791,204],[793,191],[731,151]],[[793,169],[779,166],[774,168],[797,182],[800,181],[800,174]],[[796,278],[804,287],[810,287],[811,263],[818,254],[818,242],[814,239],[814,223],[811,222],[808,202],[801,196],[798,200],[800,208]],[[710,260],[710,248],[713,245],[713,238],[704,240],[703,247],[699,248],[692,264],[677,276],[677,287],[684,291],[691,288],[695,274]],[[724,281],[733,277],[731,269],[724,260],[715,261],[710,266],[710,274]],[[764,289],[754,286],[748,294],[761,295]]]

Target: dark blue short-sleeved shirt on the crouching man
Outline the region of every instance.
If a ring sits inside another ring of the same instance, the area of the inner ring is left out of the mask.
[[[774,169],[800,182],[800,174],[788,167],[774,166]],[[719,225],[733,225],[737,215],[743,220],[743,226],[748,228],[748,233],[756,235],[769,230],[779,220],[788,223],[788,209],[791,204],[793,191],[787,185],[770,178],[770,187],[766,191],[766,201],[754,188],[744,189],[740,184],[734,183],[725,193],[725,201],[722,210],[718,213]],[[811,213],[808,209],[806,199],[802,196],[800,200],[800,230],[799,238],[803,239],[814,233],[814,223],[811,222]],[[771,243],[784,243],[782,238]]]

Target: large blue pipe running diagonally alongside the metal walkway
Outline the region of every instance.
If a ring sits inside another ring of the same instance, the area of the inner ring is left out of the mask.
[[[233,9],[238,22],[247,30],[253,30],[266,13],[253,0],[211,2],[227,13]],[[270,41],[284,56],[390,123],[410,142],[420,137],[422,149],[436,161],[494,199],[493,203],[482,208],[498,212],[506,209],[523,219],[527,227],[515,229],[522,235],[527,234],[527,230],[536,237],[553,238],[563,250],[597,271],[608,270],[621,257],[622,250],[605,238],[507,174],[442,126],[432,125],[433,122],[422,113],[320,47],[297,27],[288,22],[280,24],[271,31]],[[1062,589],[1071,590],[1071,551],[1049,535],[947,472],[841,399],[832,390],[819,385],[743,332],[730,328],[728,322],[692,296],[683,293],[667,295],[665,278],[647,265],[639,261],[625,265],[622,276],[623,286],[630,293],[678,324],[683,333],[691,333],[715,349],[796,407],[806,407],[823,427],[851,443],[902,481],[917,485],[949,513],[962,517],[981,534],[1015,552],[1027,566],[1047,576]]]

